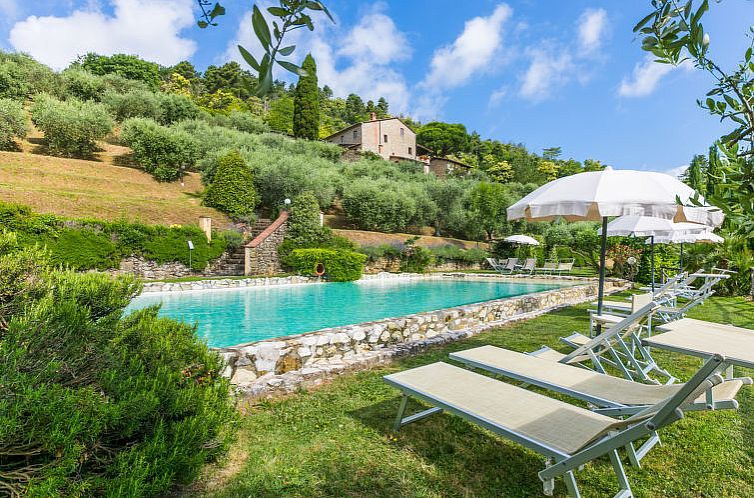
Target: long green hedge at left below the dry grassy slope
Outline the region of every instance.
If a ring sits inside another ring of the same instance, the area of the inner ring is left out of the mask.
[[[222,233],[207,242],[197,226],[152,226],[129,222],[65,220],[35,214],[26,206],[0,202],[0,227],[16,232],[23,246],[38,244],[56,265],[77,270],[117,268],[125,256],[140,255],[158,263],[181,262],[188,266],[186,241],[194,243],[191,267],[202,271],[225,251]]]

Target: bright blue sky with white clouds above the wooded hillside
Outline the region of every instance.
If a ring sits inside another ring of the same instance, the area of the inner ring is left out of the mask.
[[[209,30],[195,26],[194,3],[0,0],[0,42],[57,69],[87,51],[188,59],[199,69],[238,59],[238,42],[254,51],[251,2],[225,0],[228,15]],[[337,23],[299,31],[295,57],[311,51],[336,95],[384,95],[393,112],[618,168],[677,172],[725,130],[696,106],[712,84],[706,74],[640,50],[631,28],[648,0],[326,3]],[[751,1],[712,3],[705,27],[725,66],[743,53],[752,24]]]

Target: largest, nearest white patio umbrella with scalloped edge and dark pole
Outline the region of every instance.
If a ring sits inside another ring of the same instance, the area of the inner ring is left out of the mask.
[[[602,312],[605,285],[607,221],[612,216],[654,216],[677,222],[719,226],[723,213],[704,205],[704,199],[688,185],[670,175],[648,171],[590,171],[558,178],[542,185],[508,208],[508,219],[551,221],[602,221],[600,279],[597,300]]]

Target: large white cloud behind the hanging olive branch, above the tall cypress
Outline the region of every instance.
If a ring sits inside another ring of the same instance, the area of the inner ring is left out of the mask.
[[[265,5],[260,5],[262,8]],[[346,31],[342,24],[333,25],[324,15],[314,19],[314,33],[293,31],[286,44],[296,45],[291,60],[296,62],[311,53],[317,62],[319,85],[327,85],[336,97],[356,93],[365,100],[385,97],[393,113],[407,112],[410,90],[406,81],[391,65],[411,57],[412,49],[406,35],[393,20],[381,12],[382,5],[366,13]],[[264,9],[263,9],[264,11]],[[254,56],[261,52],[249,19],[243,16],[235,39],[228,44],[224,60],[242,62],[236,45],[242,45]],[[303,36],[299,33],[303,32]],[[224,61],[218,61],[224,62]],[[295,80],[283,70],[275,74],[287,81]]]

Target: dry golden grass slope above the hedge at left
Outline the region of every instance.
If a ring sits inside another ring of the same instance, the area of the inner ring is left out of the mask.
[[[23,148],[31,150],[33,144],[27,142]],[[73,218],[195,225],[200,216],[211,216],[220,225],[229,222],[219,211],[201,205],[198,174],[187,175],[184,187],[179,182],[159,183],[143,171],[112,164],[127,149],[103,149],[95,161],[0,152],[0,200]]]

